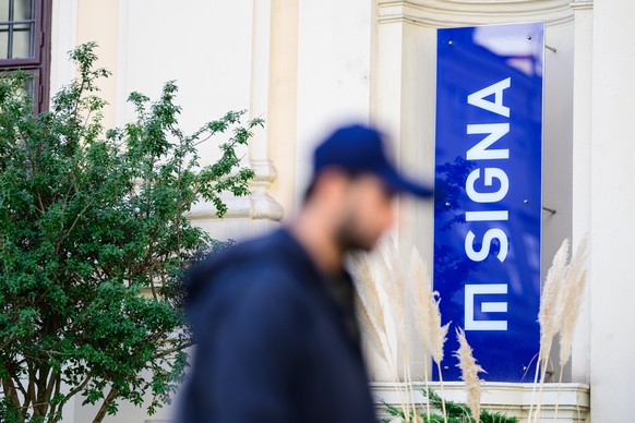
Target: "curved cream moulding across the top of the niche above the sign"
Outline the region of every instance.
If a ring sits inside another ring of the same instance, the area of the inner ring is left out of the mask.
[[[406,22],[426,27],[452,27],[544,21],[549,26],[573,22],[568,1],[380,1],[379,22]]]

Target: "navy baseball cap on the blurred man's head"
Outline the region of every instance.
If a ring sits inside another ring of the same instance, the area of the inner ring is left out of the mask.
[[[431,188],[399,174],[385,153],[383,135],[361,124],[343,126],[317,146],[313,156],[313,178],[331,167],[350,173],[374,173],[394,192],[419,197],[433,193]]]

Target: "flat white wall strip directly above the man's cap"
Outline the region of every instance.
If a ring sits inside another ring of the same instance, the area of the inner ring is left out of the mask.
[[[296,207],[311,154],[344,122],[369,121],[371,1],[299,1]]]

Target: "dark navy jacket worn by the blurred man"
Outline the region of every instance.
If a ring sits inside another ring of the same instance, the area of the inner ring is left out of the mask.
[[[352,310],[330,282],[287,230],[194,269],[188,316],[197,347],[178,422],[375,422],[345,325]]]

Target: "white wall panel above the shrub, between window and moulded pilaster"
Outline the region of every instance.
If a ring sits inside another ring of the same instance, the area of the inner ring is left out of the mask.
[[[176,80],[180,123],[188,130],[249,107],[251,0],[119,3],[119,105],[132,90],[156,98],[165,82]],[[119,124],[132,117],[130,109],[119,113]]]

